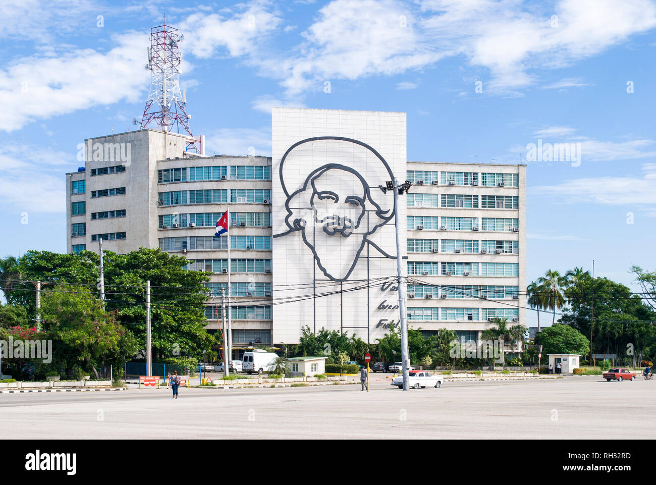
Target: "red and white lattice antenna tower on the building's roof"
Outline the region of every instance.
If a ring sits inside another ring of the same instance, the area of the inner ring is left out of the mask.
[[[180,91],[180,56],[179,43],[184,35],[166,24],[166,15],[162,24],[150,29],[150,48],[148,48],[148,64],[144,70],[151,72],[150,93],[146,100],[144,114],[139,123],[139,129],[146,129],[155,123],[161,131],[186,133],[193,137],[189,127],[191,115],[186,112],[187,96]],[[199,140],[187,140],[186,151],[201,153]]]

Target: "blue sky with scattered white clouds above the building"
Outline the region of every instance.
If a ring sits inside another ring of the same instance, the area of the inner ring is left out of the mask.
[[[66,250],[64,173],[84,164],[84,138],[134,129],[166,14],[209,153],[270,154],[272,106],[407,112],[412,160],[516,163],[538,140],[580,144],[580,164],[527,163],[529,280],[595,259],[596,276],[637,291],[628,268],[656,269],[653,0],[5,0],[0,13],[0,255]]]

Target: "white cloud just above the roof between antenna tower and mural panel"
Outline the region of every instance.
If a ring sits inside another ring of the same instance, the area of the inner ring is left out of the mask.
[[[206,154],[215,152],[217,155],[271,155],[271,127],[251,128],[222,128],[207,133]],[[251,150],[251,147],[253,150]]]

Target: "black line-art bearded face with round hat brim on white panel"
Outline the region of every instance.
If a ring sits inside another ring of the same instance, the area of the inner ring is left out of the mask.
[[[318,156],[316,143],[321,143]],[[314,150],[312,163],[291,163],[295,156],[302,157],[306,144],[312,144]],[[298,171],[306,175],[298,177]],[[394,257],[371,240],[394,217],[392,197],[384,197],[378,189],[393,179],[392,171],[371,146],[350,138],[308,138],[287,150],[279,176],[287,195],[288,230],[274,238],[300,236],[326,278],[348,280],[367,245],[375,248],[379,257]],[[290,192],[290,179],[304,181]]]

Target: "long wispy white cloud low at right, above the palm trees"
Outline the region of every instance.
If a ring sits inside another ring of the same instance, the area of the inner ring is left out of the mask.
[[[644,163],[642,173],[626,177],[586,177],[562,184],[529,188],[531,194],[548,195],[564,203],[604,205],[656,205],[656,163]],[[654,207],[644,207],[654,211]]]

